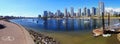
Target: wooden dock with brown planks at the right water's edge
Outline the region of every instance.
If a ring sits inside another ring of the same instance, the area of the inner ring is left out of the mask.
[[[103,27],[93,30],[94,36],[100,36],[103,34],[118,34],[118,33],[120,33],[120,23],[106,26],[104,30]]]

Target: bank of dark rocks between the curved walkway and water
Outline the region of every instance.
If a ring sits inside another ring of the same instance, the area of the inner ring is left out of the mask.
[[[37,33],[33,30],[28,30],[31,37],[33,38],[35,44],[60,44],[58,41],[53,39],[52,37],[43,35],[41,33]]]

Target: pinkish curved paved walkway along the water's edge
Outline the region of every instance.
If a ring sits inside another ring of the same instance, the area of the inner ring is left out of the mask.
[[[0,20],[6,26],[0,29],[0,44],[34,44],[30,34],[20,25]]]

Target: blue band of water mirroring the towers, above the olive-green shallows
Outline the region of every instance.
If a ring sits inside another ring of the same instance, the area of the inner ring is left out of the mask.
[[[115,21],[115,22],[114,22]],[[17,19],[12,22],[21,25],[38,25],[40,29],[53,31],[90,31],[102,26],[100,19]],[[120,20],[111,20],[111,25],[119,23]],[[105,20],[107,26],[108,20]]]

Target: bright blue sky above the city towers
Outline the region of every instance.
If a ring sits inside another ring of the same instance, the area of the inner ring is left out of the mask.
[[[120,11],[120,0],[100,0],[105,3],[107,10]],[[78,8],[98,7],[99,0],[0,0],[0,15],[2,16],[26,16],[37,17],[43,15],[43,11],[56,12],[64,8],[70,10]]]

